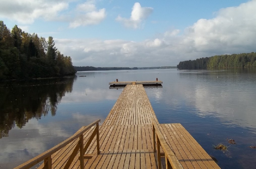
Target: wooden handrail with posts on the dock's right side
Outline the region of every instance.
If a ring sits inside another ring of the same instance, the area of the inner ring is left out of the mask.
[[[160,154],[160,145],[161,145],[165,155],[166,169],[168,168],[168,161],[170,162],[173,169],[183,169],[182,165],[180,164],[180,161],[177,159],[171,147],[166,142],[162,132],[158,127],[158,124],[156,123],[156,120],[152,119],[152,124],[153,124],[154,152],[156,152],[156,148],[157,148],[158,168],[161,169],[161,154]]]

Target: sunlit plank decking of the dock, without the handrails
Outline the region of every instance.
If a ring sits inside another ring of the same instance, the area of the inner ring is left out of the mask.
[[[152,118],[158,123],[142,84],[127,85],[99,127],[100,154],[94,138],[85,152],[89,155],[84,168],[157,168]],[[158,126],[184,168],[219,168],[180,123]],[[84,133],[84,146],[94,128]],[[52,155],[52,168],[64,167],[77,142]],[[69,168],[80,168],[79,155],[78,151]]]

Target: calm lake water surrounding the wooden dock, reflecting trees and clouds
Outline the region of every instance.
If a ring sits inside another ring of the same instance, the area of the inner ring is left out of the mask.
[[[78,72],[76,77],[0,83],[0,168],[52,148],[107,117],[123,89],[108,82],[163,81],[145,88],[159,123],[181,123],[221,168],[256,168],[256,69]],[[79,77],[79,76],[86,77]],[[236,144],[229,144],[234,139]],[[228,151],[213,149],[224,144]]]

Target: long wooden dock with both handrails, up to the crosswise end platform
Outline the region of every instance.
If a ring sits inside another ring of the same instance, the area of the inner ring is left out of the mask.
[[[16,168],[220,168],[180,123],[158,123],[142,84],[127,85],[98,123]]]

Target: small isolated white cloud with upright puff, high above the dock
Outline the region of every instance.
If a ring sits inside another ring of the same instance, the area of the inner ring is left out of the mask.
[[[136,2],[132,7],[130,18],[122,18],[119,15],[116,21],[123,23],[126,27],[137,29],[140,28],[142,21],[147,19],[152,12],[152,7],[141,7],[140,3]]]

